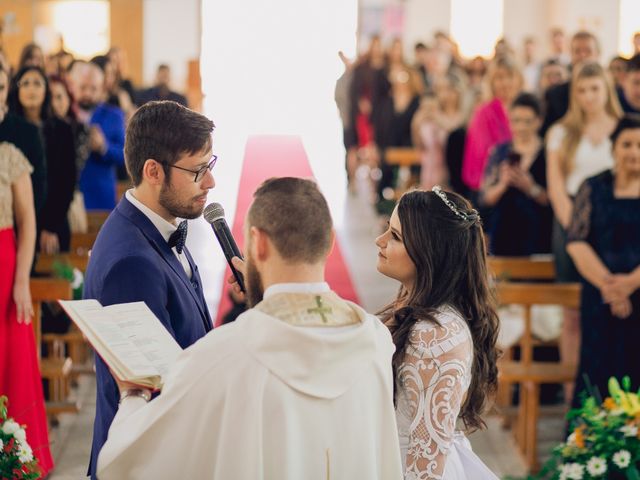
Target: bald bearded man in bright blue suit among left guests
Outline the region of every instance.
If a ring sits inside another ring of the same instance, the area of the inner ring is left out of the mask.
[[[124,164],[124,113],[103,102],[104,73],[94,63],[72,69],[78,119],[89,126],[90,154],[80,175],[87,210],[116,205],[116,169]]]

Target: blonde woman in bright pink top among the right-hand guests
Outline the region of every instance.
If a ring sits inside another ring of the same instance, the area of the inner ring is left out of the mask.
[[[480,104],[469,121],[462,163],[462,180],[473,192],[480,189],[489,150],[511,140],[507,110],[522,89],[522,73],[510,57],[489,66],[489,101]]]

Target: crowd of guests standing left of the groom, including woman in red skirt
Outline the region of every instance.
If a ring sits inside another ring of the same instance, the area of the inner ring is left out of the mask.
[[[161,65],[152,88],[136,89],[118,48],[85,61],[29,44],[15,68],[0,51],[0,392],[28,425],[45,475],[53,462],[30,325],[34,254],[69,251],[88,210],[115,207],[127,120],[152,100],[186,105],[169,85]]]

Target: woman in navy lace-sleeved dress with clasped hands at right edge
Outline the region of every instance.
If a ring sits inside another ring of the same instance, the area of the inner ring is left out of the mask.
[[[614,169],[582,184],[568,231],[567,251],[583,277],[574,406],[587,380],[603,397],[609,377],[640,384],[640,117],[623,117],[611,143]]]

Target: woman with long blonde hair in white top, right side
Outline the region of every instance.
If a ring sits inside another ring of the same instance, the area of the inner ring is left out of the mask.
[[[611,141],[622,109],[605,70],[587,62],[576,68],[571,81],[569,110],[547,134],[547,182],[553,208],[553,253],[559,282],[580,280],[566,251],[566,229],[573,213],[573,199],[582,182],[613,167]],[[560,338],[562,361],[578,362],[580,325],[577,310],[565,310]],[[567,385],[565,398],[573,387]]]

